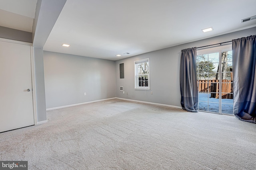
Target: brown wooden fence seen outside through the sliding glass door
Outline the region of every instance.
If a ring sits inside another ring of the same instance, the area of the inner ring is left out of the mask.
[[[198,80],[198,92],[209,93],[211,98],[219,98],[219,80]],[[222,99],[233,99],[233,81],[222,80]]]

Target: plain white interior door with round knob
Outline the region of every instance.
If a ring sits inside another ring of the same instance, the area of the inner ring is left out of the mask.
[[[30,46],[0,41],[0,132],[30,125],[34,125]]]

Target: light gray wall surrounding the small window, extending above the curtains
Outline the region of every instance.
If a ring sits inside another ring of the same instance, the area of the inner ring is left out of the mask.
[[[222,43],[255,34],[256,27],[253,27],[116,61],[116,96],[118,98],[180,106],[179,76],[182,49]],[[134,61],[145,58],[150,58],[150,90],[134,90]],[[120,63],[124,63],[124,79],[120,79]],[[120,92],[119,86],[124,86],[125,94]],[[151,91],[153,94],[150,94]]]

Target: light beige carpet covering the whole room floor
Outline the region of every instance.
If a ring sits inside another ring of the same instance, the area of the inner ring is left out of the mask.
[[[0,133],[0,160],[30,170],[256,169],[256,124],[230,115],[107,100],[47,117]]]

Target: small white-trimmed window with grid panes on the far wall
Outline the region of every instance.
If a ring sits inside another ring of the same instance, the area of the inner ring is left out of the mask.
[[[149,78],[149,58],[134,61],[134,88],[135,89],[150,89]]]

